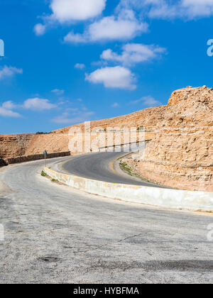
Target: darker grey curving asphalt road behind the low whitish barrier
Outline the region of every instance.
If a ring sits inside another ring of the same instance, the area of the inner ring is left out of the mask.
[[[111,183],[159,187],[157,184],[130,176],[120,170],[116,160],[125,154],[128,153],[90,153],[89,155],[76,156],[63,163],[62,172]]]

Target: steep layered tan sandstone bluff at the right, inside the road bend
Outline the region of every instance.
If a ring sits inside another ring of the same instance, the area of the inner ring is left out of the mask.
[[[173,92],[136,167],[168,187],[213,191],[213,89]]]

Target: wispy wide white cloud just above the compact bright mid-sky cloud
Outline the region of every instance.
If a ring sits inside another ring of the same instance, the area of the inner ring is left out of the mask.
[[[138,62],[146,62],[165,53],[165,48],[159,48],[155,45],[142,45],[139,43],[129,43],[123,46],[121,55],[112,50],[104,50],[101,58],[107,61],[121,62],[124,65],[131,65]]]

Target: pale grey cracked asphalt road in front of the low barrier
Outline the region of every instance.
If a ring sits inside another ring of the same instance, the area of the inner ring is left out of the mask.
[[[84,194],[43,163],[0,169],[0,283],[212,283],[212,216]]]

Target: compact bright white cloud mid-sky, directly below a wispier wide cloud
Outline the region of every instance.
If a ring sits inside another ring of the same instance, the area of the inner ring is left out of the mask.
[[[104,67],[86,75],[86,80],[94,84],[104,84],[107,88],[136,89],[133,73],[125,67]]]

